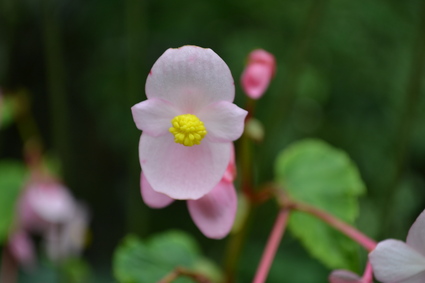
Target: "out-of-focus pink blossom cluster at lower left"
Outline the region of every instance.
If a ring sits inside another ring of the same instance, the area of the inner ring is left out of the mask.
[[[22,266],[35,261],[30,234],[42,237],[53,261],[77,256],[88,226],[87,209],[56,180],[34,174],[18,201],[18,219],[8,248]]]

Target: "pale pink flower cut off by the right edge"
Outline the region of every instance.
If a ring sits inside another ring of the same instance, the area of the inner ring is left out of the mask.
[[[379,242],[369,260],[381,282],[425,282],[425,211],[410,228],[406,243],[393,239]]]

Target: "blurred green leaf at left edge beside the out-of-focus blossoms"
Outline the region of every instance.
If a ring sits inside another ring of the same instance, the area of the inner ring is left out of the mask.
[[[25,167],[17,161],[0,162],[0,243],[9,233],[19,192],[26,178]]]

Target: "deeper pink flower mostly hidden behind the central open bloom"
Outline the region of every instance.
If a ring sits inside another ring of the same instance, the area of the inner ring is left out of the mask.
[[[237,209],[237,196],[233,186],[235,174],[236,166],[232,150],[229,165],[221,181],[203,197],[187,201],[190,216],[199,230],[209,238],[221,239],[233,226]],[[143,173],[141,193],[144,202],[152,208],[162,208],[174,201],[164,194],[155,192]]]

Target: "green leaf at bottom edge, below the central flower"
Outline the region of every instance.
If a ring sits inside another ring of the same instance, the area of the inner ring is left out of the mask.
[[[197,243],[180,231],[155,235],[147,241],[127,236],[115,251],[113,263],[114,275],[121,283],[157,282],[176,267],[203,272],[211,279],[220,278],[214,266],[201,256]],[[173,282],[193,281],[180,277]]]

